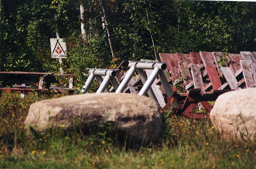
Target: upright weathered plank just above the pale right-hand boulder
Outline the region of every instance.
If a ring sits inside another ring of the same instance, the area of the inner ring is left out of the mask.
[[[246,88],[249,88],[254,83],[252,77],[252,62],[250,60],[240,60],[240,64],[242,66]]]

